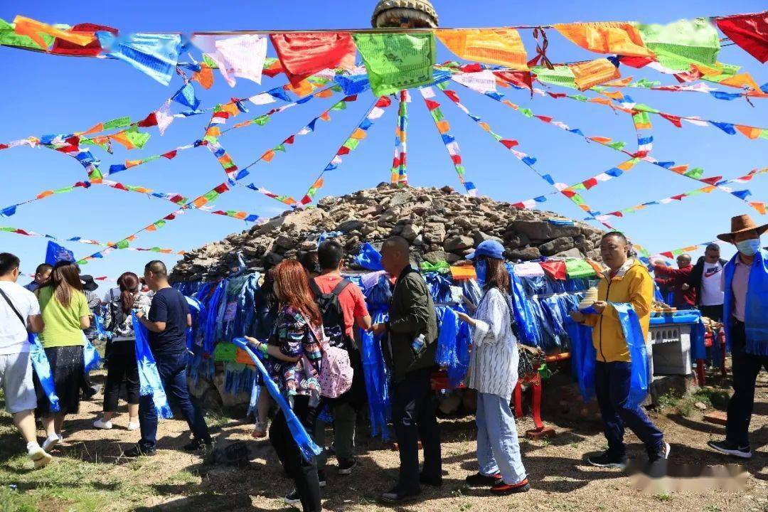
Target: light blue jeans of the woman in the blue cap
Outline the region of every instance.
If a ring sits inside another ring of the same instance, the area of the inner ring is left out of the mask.
[[[520,456],[518,429],[509,401],[499,395],[478,392],[478,463],[480,474],[501,473],[505,484],[525,480],[525,467]]]

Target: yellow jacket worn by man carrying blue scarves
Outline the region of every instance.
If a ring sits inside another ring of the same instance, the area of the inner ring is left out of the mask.
[[[637,259],[627,259],[616,276],[610,279],[605,271],[598,285],[598,300],[629,302],[640,319],[644,339],[650,325],[650,302],[654,297],[654,279]],[[586,315],[585,325],[591,325],[592,344],[598,352],[598,361],[629,362],[629,348],[621,331],[616,310],[607,306],[601,315]]]

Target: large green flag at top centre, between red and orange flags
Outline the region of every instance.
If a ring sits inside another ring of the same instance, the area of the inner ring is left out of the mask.
[[[432,83],[435,36],[427,34],[355,34],[373,94],[382,96]]]

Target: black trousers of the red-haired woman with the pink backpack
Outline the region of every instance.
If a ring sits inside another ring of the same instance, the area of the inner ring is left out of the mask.
[[[293,397],[293,412],[312,434],[315,431],[314,424],[317,408],[310,407],[310,398],[304,395]],[[299,445],[293,441],[285,415],[280,411],[275,416],[275,421],[270,426],[270,442],[280,459],[280,464],[286,473],[296,482],[296,490],[299,491],[301,506],[304,512],[320,512],[320,484],[317,478],[317,461],[312,457],[306,461],[301,455]]]

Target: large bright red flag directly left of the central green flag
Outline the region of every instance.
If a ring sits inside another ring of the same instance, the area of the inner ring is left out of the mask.
[[[273,34],[270,39],[293,85],[326,68],[355,66],[356,48],[349,32]]]

